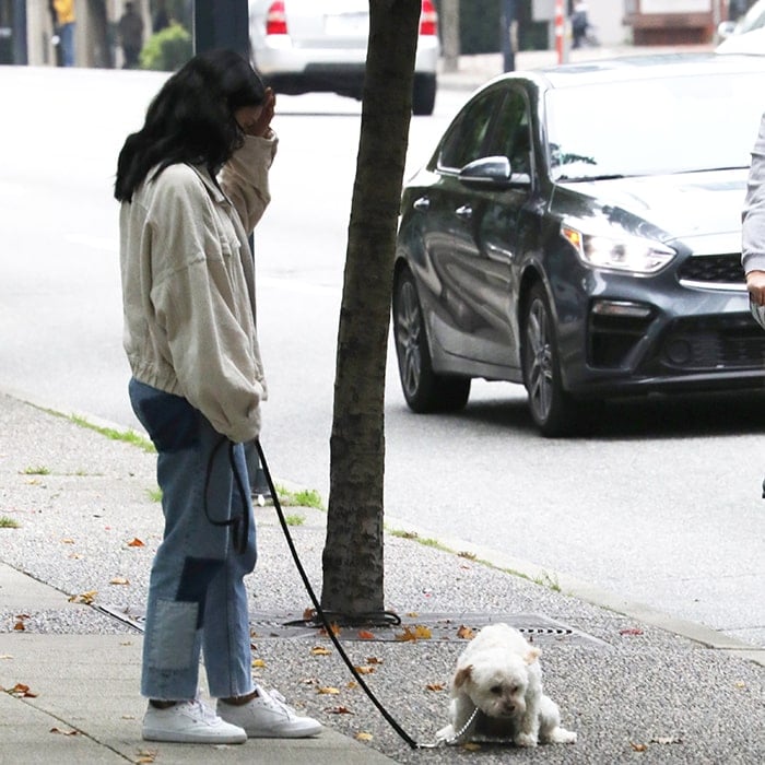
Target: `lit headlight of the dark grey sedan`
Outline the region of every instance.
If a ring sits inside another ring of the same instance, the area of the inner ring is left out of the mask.
[[[586,266],[632,273],[656,273],[676,255],[675,250],[655,239],[640,236],[585,234],[569,225],[561,225],[561,236],[577,251]]]

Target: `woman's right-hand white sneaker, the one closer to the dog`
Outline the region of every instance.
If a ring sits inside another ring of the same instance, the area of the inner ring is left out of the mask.
[[[226,722],[244,728],[250,739],[306,739],[321,732],[320,722],[297,715],[279,692],[268,692],[259,685],[256,691],[258,695],[242,706],[219,701],[217,714]]]

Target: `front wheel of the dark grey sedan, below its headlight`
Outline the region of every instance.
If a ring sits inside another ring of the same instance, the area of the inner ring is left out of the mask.
[[[523,384],[531,416],[545,436],[570,434],[576,407],[563,389],[561,361],[548,295],[542,284],[529,293],[523,314]]]

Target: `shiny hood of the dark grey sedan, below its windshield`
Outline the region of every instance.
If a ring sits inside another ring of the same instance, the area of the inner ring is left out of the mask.
[[[629,233],[648,235],[668,244],[682,239],[701,245],[705,239],[723,237],[734,240],[735,250],[741,244],[746,176],[748,169],[737,168],[562,183],[558,188],[579,197],[579,202],[584,202],[580,209],[587,210],[584,217],[593,217],[595,225],[615,224]],[[575,209],[579,204],[573,198],[568,198],[568,202],[570,207],[563,204],[568,210],[555,210],[553,205],[553,212],[578,216]]]

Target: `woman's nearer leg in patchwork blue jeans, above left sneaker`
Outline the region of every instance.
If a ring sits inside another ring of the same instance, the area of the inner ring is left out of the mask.
[[[231,496],[227,442],[185,399],[132,381],[133,409],[157,447],[165,532],[149,584],[141,693],[193,698],[208,587],[224,567],[231,513],[210,497]],[[208,503],[211,503],[208,506]]]

